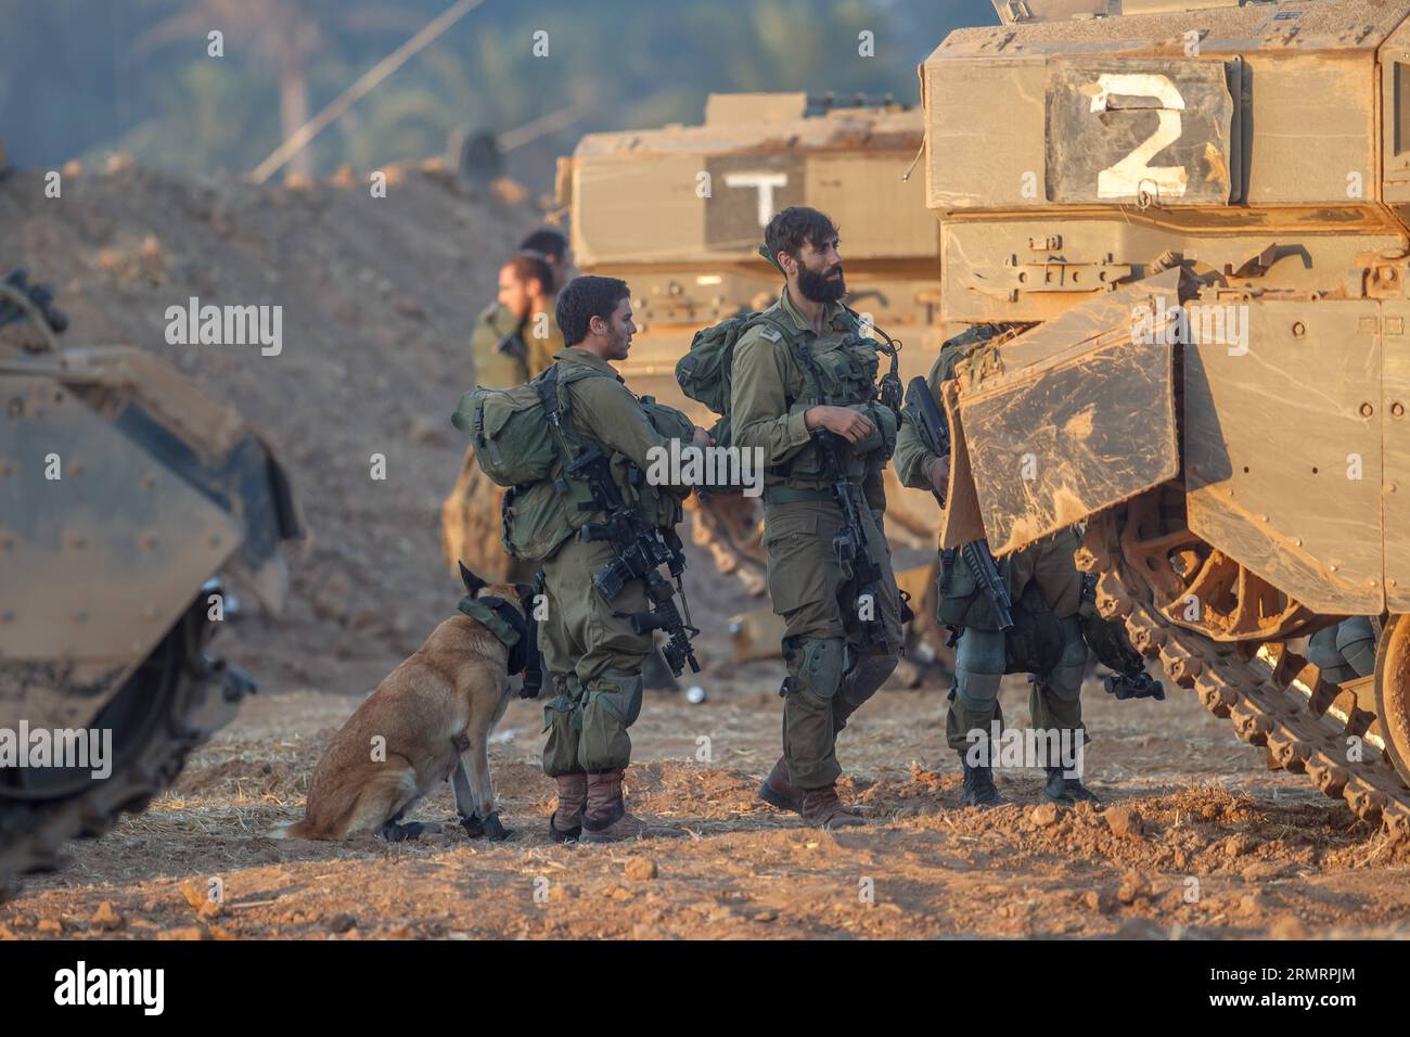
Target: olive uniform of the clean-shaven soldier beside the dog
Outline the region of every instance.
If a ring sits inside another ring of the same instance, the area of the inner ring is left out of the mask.
[[[622,377],[595,354],[564,348],[554,357],[563,392],[567,430],[585,444],[598,444],[612,456],[620,474],[618,487],[647,525],[661,528],[680,521],[680,501],[688,490],[654,487],[629,478],[629,464],[643,473],[653,447],[671,449],[671,439],[689,443],[694,429],[685,415],[651,401],[640,401]],[[664,429],[666,432],[663,432]],[[670,433],[670,435],[667,435]],[[506,535],[516,528],[536,532],[543,545],[543,581],[547,619],[540,625],[543,669],[550,673],[554,697],[544,707],[543,769],[550,777],[620,770],[630,763],[627,728],[642,710],[642,662],[654,650],[650,632],[632,629],[630,614],[651,608],[640,580],[626,584],[613,601],[605,601],[592,576],[618,552],[611,542],[582,540],[575,532],[584,522],[598,522],[577,508],[582,487],[577,480],[544,484],[537,498],[510,499]],[[551,511],[558,508],[560,511]],[[534,514],[529,514],[534,512]],[[522,523],[522,526],[516,526]]]

